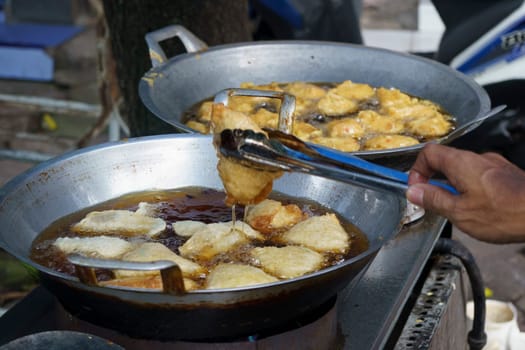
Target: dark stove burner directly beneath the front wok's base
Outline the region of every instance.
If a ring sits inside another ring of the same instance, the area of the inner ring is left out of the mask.
[[[336,297],[333,297],[314,311],[278,328],[265,330],[248,337],[221,339],[220,341],[207,340],[205,342],[132,338],[75,318],[65,311],[59,303],[55,308],[55,318],[61,329],[94,334],[127,350],[326,349],[334,347],[338,342],[336,309]]]

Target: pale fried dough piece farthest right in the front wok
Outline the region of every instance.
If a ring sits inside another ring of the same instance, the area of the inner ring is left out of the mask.
[[[350,245],[348,233],[331,213],[301,221],[281,238],[287,244],[302,245],[320,253],[344,253]]]

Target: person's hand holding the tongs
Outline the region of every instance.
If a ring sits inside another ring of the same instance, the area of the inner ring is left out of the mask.
[[[427,184],[443,174],[459,195]],[[410,202],[448,218],[461,231],[493,243],[525,242],[525,171],[496,153],[429,144],[409,174]]]

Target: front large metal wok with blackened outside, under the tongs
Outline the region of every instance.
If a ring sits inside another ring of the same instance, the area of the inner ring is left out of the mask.
[[[42,163],[0,191],[0,246],[39,270],[42,283],[73,315],[134,337],[217,339],[250,335],[294,320],[354,283],[400,229],[405,199],[388,192],[302,174],[275,190],[313,199],[359,227],[370,241],[361,255],[300,278],[177,295],[87,285],[30,260],[34,238],[58,218],[143,190],[222,189],[210,136],[177,134],[99,145]],[[307,189],[307,190],[305,190]]]

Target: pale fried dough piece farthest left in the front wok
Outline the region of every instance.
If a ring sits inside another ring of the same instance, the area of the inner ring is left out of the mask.
[[[82,254],[93,258],[116,259],[133,249],[128,241],[108,236],[59,237],[53,243],[64,254]]]

